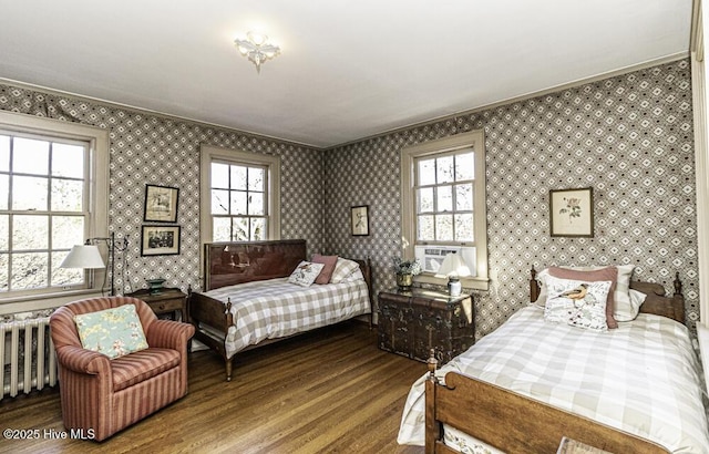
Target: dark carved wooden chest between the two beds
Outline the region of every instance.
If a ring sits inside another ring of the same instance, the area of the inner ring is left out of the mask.
[[[470,295],[417,289],[379,292],[379,348],[425,362],[431,349],[441,364],[475,343]]]

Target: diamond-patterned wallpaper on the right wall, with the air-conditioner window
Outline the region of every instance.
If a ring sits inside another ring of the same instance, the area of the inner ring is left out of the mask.
[[[521,75],[523,76],[523,75]],[[326,248],[369,256],[374,291],[394,287],[401,248],[399,152],[483,128],[492,285],[474,292],[476,336],[528,300],[530,268],[635,264],[699,318],[695,155],[688,60],[393,132],[326,153]],[[594,188],[595,237],[551,238],[548,192]],[[349,234],[369,205],[370,236]]]

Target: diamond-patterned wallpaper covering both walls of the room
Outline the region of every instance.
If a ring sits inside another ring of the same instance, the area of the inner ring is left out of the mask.
[[[130,247],[116,288],[145,278],[199,288],[199,144],[281,157],[281,238],[308,252],[370,257],[374,293],[393,287],[401,250],[399,152],[484,130],[491,286],[474,292],[476,336],[528,299],[530,268],[634,264],[635,278],[672,291],[679,271],[688,324],[699,318],[697,202],[688,60],[322,151],[69,95],[0,84],[0,110],[110,132],[110,226]],[[181,254],[141,257],[146,184],[181,189]],[[548,190],[594,188],[595,237],[551,238]],[[370,235],[349,231],[369,205]],[[125,265],[124,265],[125,264]]]

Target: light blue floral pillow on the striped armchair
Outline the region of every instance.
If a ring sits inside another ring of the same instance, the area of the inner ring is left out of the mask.
[[[147,349],[135,306],[124,305],[74,317],[81,344],[110,359]]]

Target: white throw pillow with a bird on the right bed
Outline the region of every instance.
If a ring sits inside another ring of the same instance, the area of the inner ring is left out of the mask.
[[[544,308],[544,320],[595,331],[607,330],[606,301],[612,283],[547,276],[548,299]]]

